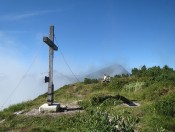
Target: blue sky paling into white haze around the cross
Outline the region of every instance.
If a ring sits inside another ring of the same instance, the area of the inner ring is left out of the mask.
[[[111,64],[133,67],[175,66],[174,0],[0,0],[1,98],[19,86],[25,99],[47,90],[48,46],[42,42],[55,26],[58,44],[75,74]],[[54,70],[71,74],[60,52]],[[7,85],[8,84],[8,85]],[[30,89],[30,90],[29,90]],[[37,92],[36,92],[37,90]],[[29,93],[35,93],[31,96]],[[13,103],[14,98],[11,97]],[[29,94],[29,95],[28,95]],[[24,98],[23,98],[24,99]],[[1,99],[2,100],[2,99]],[[1,105],[1,104],[0,104]]]

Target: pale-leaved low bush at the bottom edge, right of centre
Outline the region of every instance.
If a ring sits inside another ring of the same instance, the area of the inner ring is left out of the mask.
[[[93,132],[134,132],[137,118],[124,116],[122,114],[114,115],[103,112],[100,108],[92,110],[89,113],[85,124],[89,131]]]

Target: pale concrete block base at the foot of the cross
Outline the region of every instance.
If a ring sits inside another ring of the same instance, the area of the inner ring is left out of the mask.
[[[48,105],[47,103],[41,105],[39,107],[39,112],[40,113],[45,113],[45,112],[57,112],[60,108],[60,104],[59,103],[53,103],[52,105]]]

